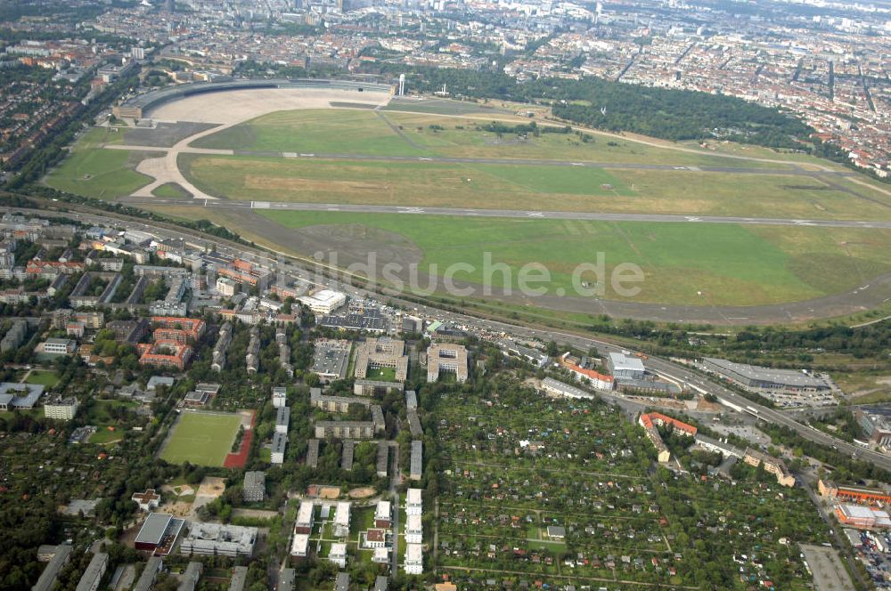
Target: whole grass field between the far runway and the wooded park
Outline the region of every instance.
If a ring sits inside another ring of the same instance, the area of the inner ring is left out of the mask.
[[[435,114],[374,112],[370,110],[309,109],[280,111],[234,125],[193,142],[195,148],[377,156],[443,156],[462,158],[542,158],[601,163],[672,164],[786,168],[815,164],[816,158],[759,151],[749,158],[722,158],[716,150],[687,145],[648,145],[600,134],[515,134],[487,131],[494,120],[504,125],[527,125],[528,119],[493,113],[492,119],[442,117]],[[542,125],[542,129],[552,125]],[[732,154],[733,156],[748,156]],[[808,159],[809,158],[809,159]],[[782,164],[780,161],[790,161]]]

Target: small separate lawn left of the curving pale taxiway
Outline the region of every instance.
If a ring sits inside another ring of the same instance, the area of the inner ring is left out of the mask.
[[[86,197],[113,199],[129,195],[151,182],[151,177],[135,171],[136,165],[159,154],[103,150],[89,143],[78,144],[61,166],[46,176],[53,189]]]

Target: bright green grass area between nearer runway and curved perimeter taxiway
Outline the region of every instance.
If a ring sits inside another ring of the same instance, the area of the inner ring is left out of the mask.
[[[595,262],[598,252],[605,255],[608,273],[619,263],[641,266],[645,280],[634,299],[666,304],[802,300],[854,288],[891,271],[881,255],[891,246],[891,231],[329,212],[262,215],[289,228],[344,225],[357,237],[366,227],[392,231],[421,248],[425,267],[437,264],[442,272],[454,263],[474,265],[474,271],[462,271],[456,279],[476,283],[484,279],[484,252],[514,271],[525,263],[543,263],[551,273],[550,294],[558,287],[571,293],[576,265]],[[503,284],[501,273],[491,276],[495,286]],[[610,296],[615,295],[608,289]]]

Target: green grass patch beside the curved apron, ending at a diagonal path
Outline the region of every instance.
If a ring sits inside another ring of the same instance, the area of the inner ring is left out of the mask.
[[[371,110],[278,111],[210,134],[196,148],[413,156],[423,154]]]

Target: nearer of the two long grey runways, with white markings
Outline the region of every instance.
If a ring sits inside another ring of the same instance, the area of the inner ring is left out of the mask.
[[[774,217],[725,215],[605,214],[600,212],[529,211],[523,209],[469,209],[466,207],[372,206],[342,203],[293,203],[288,201],[235,201],[231,199],[183,199],[122,197],[130,206],[200,206],[217,209],[341,212],[347,214],[450,215],[455,217],[509,217],[531,220],[591,220],[596,222],[732,223],[764,226],[818,226],[823,228],[891,229],[891,221],[790,220]]]

